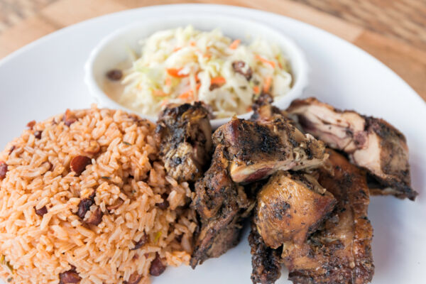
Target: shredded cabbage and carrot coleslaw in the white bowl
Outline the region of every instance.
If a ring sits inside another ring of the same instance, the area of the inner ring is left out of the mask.
[[[141,56],[131,67],[111,70],[124,87],[105,92],[125,107],[155,116],[168,103],[202,101],[216,118],[243,114],[262,92],[275,99],[292,85],[290,64],[278,45],[256,39],[249,45],[219,30],[192,26],[158,31],[141,40]],[[121,80],[121,76],[124,77]]]

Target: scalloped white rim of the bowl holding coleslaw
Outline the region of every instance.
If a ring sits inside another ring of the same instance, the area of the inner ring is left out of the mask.
[[[99,87],[99,84],[96,82],[94,78],[93,73],[93,67],[94,62],[97,60],[97,56],[99,53],[111,42],[113,42],[116,38],[118,38],[120,35],[132,31],[133,29],[140,28],[141,26],[149,26],[153,23],[163,23],[165,26],[168,26],[170,23],[176,23],[177,21],[185,21],[188,23],[191,23],[192,21],[234,21],[234,23],[239,22],[241,24],[251,25],[251,26],[258,26],[259,28],[263,28],[266,33],[273,34],[275,36],[275,44],[278,44],[278,46],[283,50],[283,53],[285,55],[288,55],[288,53],[293,53],[293,55],[288,56],[288,59],[290,60],[290,66],[292,68],[292,72],[294,72],[294,67],[297,65],[298,68],[298,74],[297,77],[295,77],[295,74],[293,73],[293,86],[289,90],[287,94],[285,94],[283,97],[278,99],[277,101],[273,102],[273,104],[276,107],[286,107],[285,105],[280,104],[280,102],[288,102],[290,99],[293,100],[296,97],[299,97],[305,87],[307,87],[307,77],[308,77],[308,65],[305,59],[305,55],[302,52],[302,50],[295,44],[294,40],[288,38],[287,36],[283,35],[283,33],[280,33],[275,28],[258,21],[253,21],[249,18],[241,18],[236,16],[227,16],[225,14],[213,14],[213,13],[197,13],[196,15],[191,13],[184,13],[180,14],[179,16],[168,16],[165,19],[159,19],[159,18],[146,18],[143,21],[137,21],[135,23],[131,23],[130,25],[123,26],[121,28],[117,28],[115,31],[107,35],[104,39],[102,39],[98,45],[92,50],[92,52],[89,55],[89,59],[87,60],[86,64],[84,65],[84,82],[87,84],[87,87],[89,88],[89,92],[92,94],[94,99],[97,100],[97,102],[106,103],[107,105],[112,105],[119,109],[125,109],[129,112],[136,112],[132,109],[128,109],[124,107],[123,105],[119,104],[118,102],[111,99],[107,94],[104,93],[104,91]],[[174,27],[178,26],[185,26],[185,24],[178,24],[173,25]],[[197,24],[194,25],[195,28],[197,28]],[[172,28],[172,26],[170,26]],[[226,31],[223,31],[224,35],[226,35]],[[255,35],[256,37],[256,35]],[[244,38],[241,36],[241,38]],[[138,38],[137,40],[141,40],[143,38]],[[285,45],[285,48],[283,46]],[[107,72],[107,70],[105,70]],[[102,106],[101,106],[102,107]],[[237,117],[248,119],[251,114],[253,114],[253,111],[247,112],[245,114],[239,114]],[[156,116],[148,116],[139,114],[141,116],[144,116],[148,119],[151,119],[152,121],[156,121]],[[226,121],[229,121],[231,117],[222,118],[222,119],[212,119],[211,124],[212,126],[219,126]]]

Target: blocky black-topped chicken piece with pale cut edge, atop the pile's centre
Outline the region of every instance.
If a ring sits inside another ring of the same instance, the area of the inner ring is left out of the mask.
[[[327,159],[324,143],[302,134],[282,115],[273,121],[234,118],[214,132],[213,142],[226,148],[234,182],[253,182],[278,170],[312,168]]]

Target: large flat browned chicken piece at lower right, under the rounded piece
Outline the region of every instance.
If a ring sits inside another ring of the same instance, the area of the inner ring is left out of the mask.
[[[329,151],[331,170],[319,170],[320,184],[338,203],[324,226],[304,244],[286,243],[282,258],[297,284],[363,284],[373,277],[369,203],[365,175],[344,156]]]

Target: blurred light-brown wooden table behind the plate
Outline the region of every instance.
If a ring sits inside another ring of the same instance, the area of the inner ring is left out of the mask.
[[[381,60],[426,100],[426,0],[0,0],[0,58],[87,18],[183,2],[246,6],[323,28]]]

